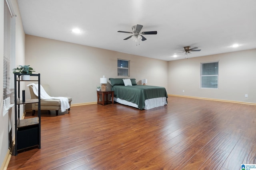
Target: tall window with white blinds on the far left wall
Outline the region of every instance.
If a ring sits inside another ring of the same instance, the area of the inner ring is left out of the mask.
[[[6,1],[4,1],[4,71],[3,71],[3,99],[4,110],[10,107],[11,80],[11,49],[12,49],[12,13]]]

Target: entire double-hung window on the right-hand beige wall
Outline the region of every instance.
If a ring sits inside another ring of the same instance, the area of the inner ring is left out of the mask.
[[[218,88],[218,63],[201,63],[201,88]]]

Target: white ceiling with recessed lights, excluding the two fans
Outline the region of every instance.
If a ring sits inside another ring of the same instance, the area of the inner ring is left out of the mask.
[[[18,0],[26,34],[164,61],[256,48],[256,0]],[[144,25],[146,41],[129,33]],[[73,28],[82,30],[80,34]],[[232,48],[237,43],[240,46]],[[178,57],[173,57],[178,53]]]

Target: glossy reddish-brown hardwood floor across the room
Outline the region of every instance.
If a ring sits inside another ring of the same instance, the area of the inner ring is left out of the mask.
[[[142,111],[74,106],[43,112],[41,138],[8,170],[240,170],[256,164],[256,106],[175,96]]]

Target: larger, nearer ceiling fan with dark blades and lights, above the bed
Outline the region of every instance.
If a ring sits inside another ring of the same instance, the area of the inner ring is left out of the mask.
[[[127,40],[129,38],[132,38],[132,40],[138,42],[138,41],[145,41],[146,38],[143,36],[143,35],[147,35],[147,34],[157,34],[157,31],[145,31],[145,32],[142,32],[140,33],[141,29],[142,29],[143,25],[134,25],[132,26],[132,31],[133,32],[127,32],[127,31],[117,31],[119,33],[131,33],[133,35],[125,38],[124,40]]]

